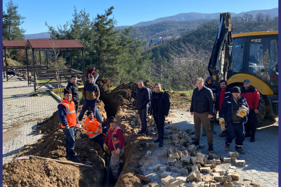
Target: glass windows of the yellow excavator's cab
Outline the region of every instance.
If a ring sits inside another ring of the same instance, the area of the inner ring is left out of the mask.
[[[278,35],[235,38],[228,77],[236,73],[248,73],[278,87]]]

